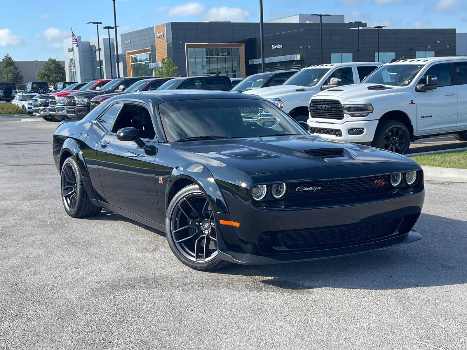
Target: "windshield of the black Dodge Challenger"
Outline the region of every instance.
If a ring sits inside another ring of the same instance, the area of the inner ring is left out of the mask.
[[[308,135],[267,101],[202,99],[159,105],[167,140]]]

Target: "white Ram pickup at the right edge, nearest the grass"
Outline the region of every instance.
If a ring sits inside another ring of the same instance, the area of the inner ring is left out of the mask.
[[[405,154],[410,141],[452,133],[467,141],[467,57],[396,60],[361,84],[310,100],[310,133]]]

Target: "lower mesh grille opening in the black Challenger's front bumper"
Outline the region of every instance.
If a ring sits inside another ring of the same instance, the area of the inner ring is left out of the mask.
[[[258,245],[263,249],[271,247],[277,237],[287,249],[321,250],[352,246],[394,235],[402,219],[398,217],[366,223],[263,232],[258,237]],[[407,232],[401,234],[405,233]]]

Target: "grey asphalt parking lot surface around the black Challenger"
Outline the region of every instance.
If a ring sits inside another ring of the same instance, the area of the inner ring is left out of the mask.
[[[56,126],[0,118],[0,349],[467,348],[467,183],[426,182],[415,243],[203,273],[163,232],[66,215]]]

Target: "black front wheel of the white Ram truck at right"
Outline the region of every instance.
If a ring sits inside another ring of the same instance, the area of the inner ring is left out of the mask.
[[[410,147],[409,129],[397,120],[385,120],[376,128],[371,146],[406,154]]]

